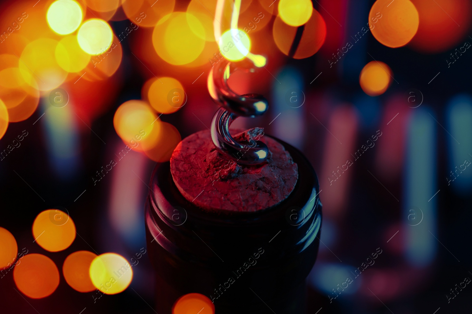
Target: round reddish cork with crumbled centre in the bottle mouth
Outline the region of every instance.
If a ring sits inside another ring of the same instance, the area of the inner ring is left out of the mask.
[[[256,128],[233,135],[239,142],[254,138],[269,147],[268,160],[253,166],[224,158],[213,145],[209,130],[184,138],[170,158],[172,178],[180,193],[194,205],[214,212],[256,212],[284,201],[295,188],[297,164],[283,145],[261,134],[263,129]]]

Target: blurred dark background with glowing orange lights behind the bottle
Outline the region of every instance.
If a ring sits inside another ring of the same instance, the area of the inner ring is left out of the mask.
[[[472,1],[220,2],[0,4],[0,261],[17,244],[0,265],[3,312],[155,313],[148,182],[181,138],[210,127],[207,78],[223,57],[252,59],[229,86],[270,100],[236,127],[294,145],[319,177],[308,313],[469,309]],[[223,51],[238,42],[224,35],[235,5],[250,53]],[[35,231],[47,209],[67,220],[59,236]],[[129,287],[79,292],[64,262],[81,250],[132,264]],[[44,286],[14,277],[21,252],[52,269]]]

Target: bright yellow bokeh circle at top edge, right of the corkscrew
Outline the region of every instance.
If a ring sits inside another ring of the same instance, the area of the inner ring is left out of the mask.
[[[310,0],[280,0],[278,14],[290,26],[300,26],[308,22],[313,12]]]

